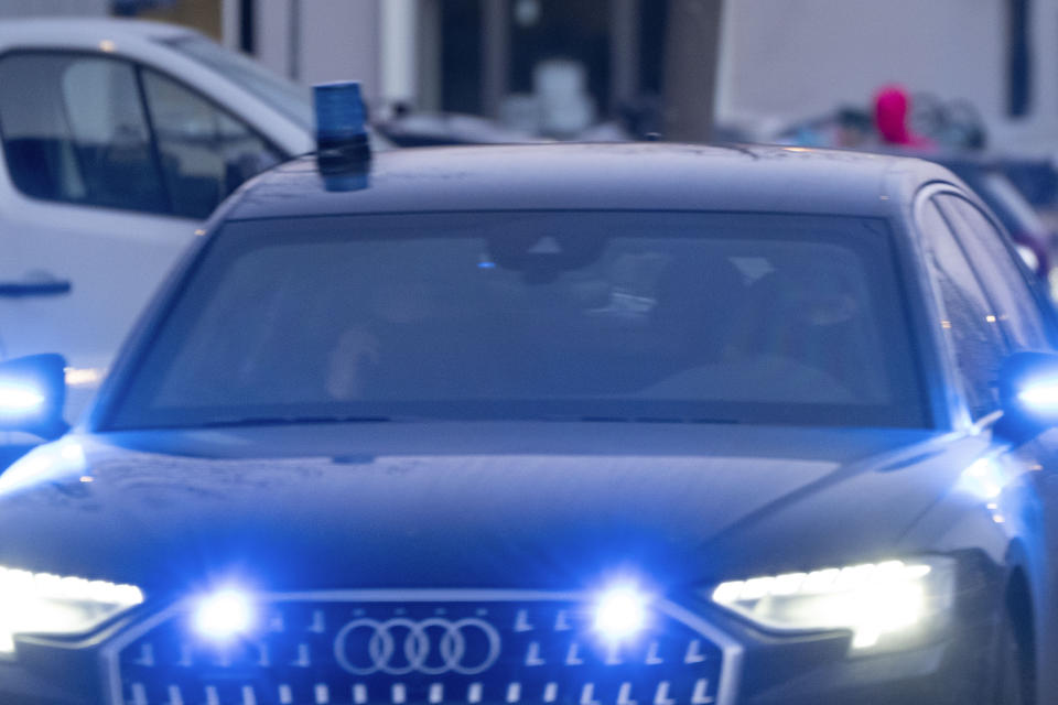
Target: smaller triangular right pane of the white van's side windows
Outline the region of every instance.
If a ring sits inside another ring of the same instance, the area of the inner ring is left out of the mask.
[[[280,161],[246,124],[176,82],[143,69],[143,88],[176,215],[205,218],[239,184]]]

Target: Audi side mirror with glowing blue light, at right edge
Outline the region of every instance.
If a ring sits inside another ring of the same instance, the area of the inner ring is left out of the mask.
[[[997,431],[1013,437],[1058,426],[1058,354],[1015,352],[1000,366]]]

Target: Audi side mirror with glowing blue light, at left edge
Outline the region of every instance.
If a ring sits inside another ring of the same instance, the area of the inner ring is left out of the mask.
[[[51,441],[66,433],[66,360],[30,355],[0,362],[0,431],[23,431]]]

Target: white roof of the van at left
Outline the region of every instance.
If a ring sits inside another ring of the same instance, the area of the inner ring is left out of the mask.
[[[0,46],[55,43],[98,44],[105,40],[166,40],[195,35],[176,24],[122,18],[20,18],[0,20]]]

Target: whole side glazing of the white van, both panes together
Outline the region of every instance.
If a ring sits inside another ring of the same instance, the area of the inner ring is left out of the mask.
[[[28,196],[195,219],[283,158],[160,73],[69,52],[0,59],[0,131]]]

